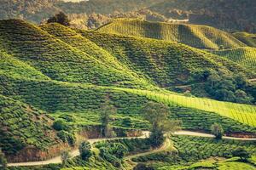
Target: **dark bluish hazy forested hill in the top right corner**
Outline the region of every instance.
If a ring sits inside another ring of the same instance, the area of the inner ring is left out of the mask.
[[[189,19],[192,24],[256,32],[256,1],[252,0],[165,0],[149,9],[167,18]]]

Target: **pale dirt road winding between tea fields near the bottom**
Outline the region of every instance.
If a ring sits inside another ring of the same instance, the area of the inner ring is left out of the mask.
[[[197,133],[197,132],[191,132],[191,131],[177,131],[174,134],[214,138],[214,136],[212,134]],[[145,139],[145,138],[148,138],[148,136],[149,136],[149,132],[143,131],[143,135],[141,137],[137,137],[137,138]],[[113,138],[113,139],[124,139],[124,138]],[[126,139],[131,139],[131,138],[126,138]],[[256,141],[256,139],[233,138],[233,137],[226,137],[226,136],[224,136],[223,139],[252,140],[252,141],[254,140],[254,141]],[[87,141],[90,142],[90,144],[94,144],[96,142],[103,141],[103,140],[109,140],[109,139],[88,139]],[[150,150],[150,151],[132,155],[132,156],[126,156],[125,159],[127,160],[127,159],[131,159],[131,158],[137,157],[137,156],[144,156],[144,155],[156,153],[156,152],[159,152],[162,150],[166,150],[169,147],[171,147],[171,141],[169,139],[167,139],[165,144],[163,144],[159,149]],[[79,156],[79,150],[78,149],[72,150],[70,152],[70,155],[71,155],[71,157]],[[48,165],[50,163],[61,163],[61,156],[56,156],[47,161],[28,161],[28,162],[9,163],[8,167],[29,167],[29,166],[38,166],[38,165]]]

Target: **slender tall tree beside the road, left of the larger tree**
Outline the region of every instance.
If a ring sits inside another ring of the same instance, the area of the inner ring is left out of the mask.
[[[113,137],[113,129],[110,127],[110,116],[116,113],[116,109],[108,102],[103,104],[100,111],[100,119],[102,123],[102,134],[104,137]]]

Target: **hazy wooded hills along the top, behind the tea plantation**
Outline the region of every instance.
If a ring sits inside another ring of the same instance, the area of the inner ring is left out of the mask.
[[[0,19],[19,18],[40,23],[63,11],[76,25],[96,28],[119,17],[144,20],[189,20],[225,31],[255,32],[256,2],[253,0],[1,0]]]

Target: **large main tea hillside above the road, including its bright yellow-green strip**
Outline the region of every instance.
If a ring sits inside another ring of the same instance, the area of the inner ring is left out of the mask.
[[[167,105],[184,129],[209,132],[218,122],[228,134],[255,134],[255,105],[165,89],[198,83],[194,76],[209,70],[255,78],[231,59],[182,43],[1,20],[0,147],[11,161],[57,155],[67,141],[60,141],[52,123],[71,116],[75,130],[98,125],[106,102],[117,109],[116,128],[147,129],[140,110],[154,101]]]

